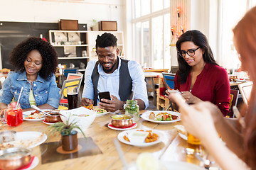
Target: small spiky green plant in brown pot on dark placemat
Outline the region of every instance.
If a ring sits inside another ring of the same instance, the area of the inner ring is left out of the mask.
[[[75,120],[70,122],[69,117],[66,123],[58,122],[50,125],[49,136],[55,134],[55,132],[59,132],[61,135],[60,143],[63,147],[63,150],[72,151],[78,147],[78,131],[74,130],[75,128],[82,132],[78,122]],[[85,137],[84,132],[82,132],[82,135]]]

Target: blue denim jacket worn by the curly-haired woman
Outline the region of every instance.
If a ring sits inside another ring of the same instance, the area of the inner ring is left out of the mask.
[[[26,72],[9,72],[3,84],[0,102],[9,104],[13,98],[14,101],[18,101],[18,95],[21,92],[22,86],[23,91],[19,101],[21,108],[31,108],[29,103],[31,84],[26,78]],[[60,89],[57,87],[54,75],[47,81],[38,74],[36,81],[32,83],[32,89],[37,106],[47,103],[50,106],[58,108],[60,103]]]

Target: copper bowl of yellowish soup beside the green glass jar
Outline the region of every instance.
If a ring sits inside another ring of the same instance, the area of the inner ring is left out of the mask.
[[[127,128],[132,125],[132,115],[112,115],[111,124],[117,128]]]

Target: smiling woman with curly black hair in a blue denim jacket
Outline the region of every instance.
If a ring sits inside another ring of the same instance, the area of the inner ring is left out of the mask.
[[[12,99],[18,100],[23,87],[20,104],[23,111],[38,108],[58,108],[60,89],[55,81],[58,55],[50,43],[41,38],[28,38],[18,44],[10,55],[14,72],[10,72],[3,84],[0,109],[4,111]]]

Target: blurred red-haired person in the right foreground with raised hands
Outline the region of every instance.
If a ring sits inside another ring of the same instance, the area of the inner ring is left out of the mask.
[[[223,118],[218,107],[209,102],[188,106],[171,94],[179,106],[186,130],[198,137],[222,169],[256,169],[256,7],[248,11],[233,29],[234,45],[241,69],[253,82],[248,106],[238,119]],[[222,137],[223,143],[219,139]],[[226,145],[225,145],[226,144]]]

